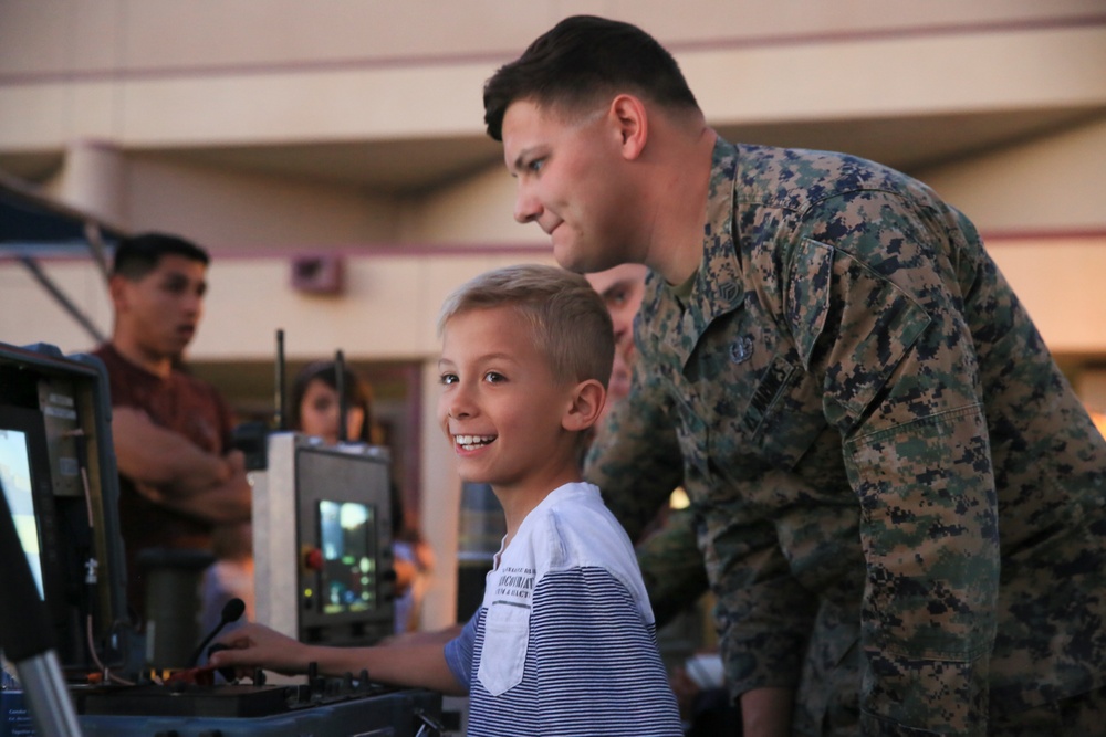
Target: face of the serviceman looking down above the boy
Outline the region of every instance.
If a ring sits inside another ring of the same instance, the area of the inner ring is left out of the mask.
[[[583,273],[634,260],[635,198],[606,109],[566,122],[532,102],[512,103],[503,156],[518,180],[514,219],[549,233],[557,263]]]

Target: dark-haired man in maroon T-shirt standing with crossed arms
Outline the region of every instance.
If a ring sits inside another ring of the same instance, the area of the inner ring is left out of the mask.
[[[127,599],[140,618],[142,550],[213,552],[222,530],[250,519],[244,457],[229,450],[230,409],[180,368],[202,316],[209,261],[176,235],[123,239],[109,278],[112,338],[93,351],[111,386]]]

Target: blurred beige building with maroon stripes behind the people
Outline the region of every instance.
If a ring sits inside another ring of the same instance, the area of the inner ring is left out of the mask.
[[[342,349],[438,560],[424,627],[450,623],[437,310],[477,273],[551,262],[512,220],[481,88],[581,12],[653,33],[731,140],[933,187],[1106,409],[1106,0],[0,0],[0,341],[109,334],[97,240],[204,245],[192,371],[265,420],[278,329],[289,376]]]

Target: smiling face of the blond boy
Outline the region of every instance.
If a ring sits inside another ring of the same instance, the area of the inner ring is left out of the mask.
[[[573,386],[553,379],[531,333],[508,307],[461,313],[442,331],[438,422],[461,478],[499,493],[555,488],[574,452],[562,425]]]

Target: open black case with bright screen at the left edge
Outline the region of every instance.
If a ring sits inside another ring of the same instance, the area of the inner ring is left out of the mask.
[[[53,346],[0,344],[0,483],[62,668],[127,657],[118,476],[103,365]]]

